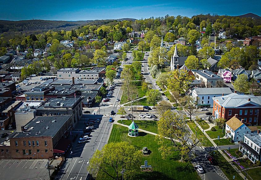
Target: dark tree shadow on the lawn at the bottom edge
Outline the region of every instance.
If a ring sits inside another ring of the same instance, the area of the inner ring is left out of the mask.
[[[166,174],[163,174],[158,171],[151,171],[151,172],[141,172],[136,175],[133,179],[139,179],[139,180],[175,180],[174,178],[171,178],[167,176]]]

